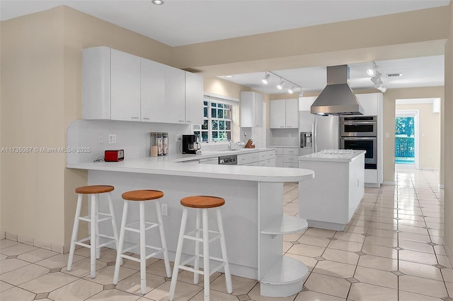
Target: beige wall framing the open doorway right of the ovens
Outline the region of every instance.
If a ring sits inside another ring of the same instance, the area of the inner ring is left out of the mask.
[[[441,98],[441,102],[443,102],[444,87],[388,89],[386,93],[384,93],[383,131],[384,134],[390,134],[389,138],[384,138],[383,143],[384,182],[389,184],[394,183],[395,177],[395,100],[413,98]],[[442,162],[440,162],[440,166],[442,166]],[[442,179],[440,179],[440,181],[442,181]]]

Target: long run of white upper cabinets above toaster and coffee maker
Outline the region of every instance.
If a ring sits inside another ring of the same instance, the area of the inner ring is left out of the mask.
[[[108,47],[83,55],[84,119],[203,123],[202,76]]]

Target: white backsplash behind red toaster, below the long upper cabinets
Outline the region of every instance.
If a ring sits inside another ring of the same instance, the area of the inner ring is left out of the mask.
[[[151,122],[122,122],[114,120],[74,120],[67,129],[67,147],[75,153],[67,154],[67,163],[93,162],[103,156],[105,150],[125,151],[125,158],[149,156],[151,131],[168,133],[168,155],[181,153],[181,143],[176,142],[177,134],[190,134],[186,124],[159,124]],[[103,134],[103,144],[98,144],[98,134]],[[116,134],[117,143],[108,143],[108,134]],[[90,148],[86,153],[77,152]]]

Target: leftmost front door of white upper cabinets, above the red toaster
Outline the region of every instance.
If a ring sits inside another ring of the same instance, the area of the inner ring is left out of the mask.
[[[140,121],[140,58],[110,49],[111,119]]]

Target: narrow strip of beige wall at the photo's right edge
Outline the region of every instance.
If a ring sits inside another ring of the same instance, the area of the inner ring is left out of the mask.
[[[453,149],[453,4],[451,3],[449,14],[449,39],[445,45],[445,102],[443,102],[445,131],[442,135],[445,141],[444,242],[447,252],[453,256],[453,158],[451,155]]]

